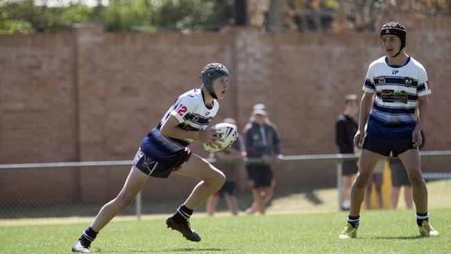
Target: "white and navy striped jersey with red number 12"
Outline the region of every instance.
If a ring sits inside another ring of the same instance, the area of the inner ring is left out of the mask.
[[[178,128],[182,130],[198,131],[207,128],[219,110],[219,103],[214,100],[212,107],[207,107],[203,96],[203,91],[200,88],[195,88],[180,95],[160,120],[158,126],[144,137],[141,142],[142,151],[154,160],[164,160],[173,158],[177,151],[185,149],[186,146],[191,144],[193,139],[167,137],[160,133],[160,128],[169,115],[178,119],[180,122]]]

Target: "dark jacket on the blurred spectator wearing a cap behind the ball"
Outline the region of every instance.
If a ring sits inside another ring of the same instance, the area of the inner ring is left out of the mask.
[[[267,121],[259,126],[254,121],[244,127],[244,147],[248,158],[282,154],[282,142],[277,127]]]

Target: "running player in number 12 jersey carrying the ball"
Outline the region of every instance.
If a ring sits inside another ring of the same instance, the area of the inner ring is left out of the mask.
[[[133,167],[119,195],[101,208],[90,227],[72,246],[74,252],[90,252],[97,233],[141,191],[149,176],[167,178],[171,172],[200,179],[186,201],[166,221],[167,227],[178,230],[186,239],[199,242],[201,236],[192,230],[189,218],[214,192],[221,188],[226,176],[212,164],[193,154],[187,147],[194,140],[220,146],[222,141],[208,125],[219,110],[219,103],[228,90],[228,69],[220,63],[210,63],[201,71],[201,88],[180,95],[171,105],[158,126],[141,142]]]

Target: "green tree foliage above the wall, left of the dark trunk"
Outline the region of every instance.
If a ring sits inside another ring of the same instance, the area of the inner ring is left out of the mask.
[[[74,3],[75,2],[75,3]],[[110,0],[108,6],[37,6],[33,0],[0,1],[0,33],[58,32],[75,23],[107,31],[211,31],[232,18],[233,1]]]

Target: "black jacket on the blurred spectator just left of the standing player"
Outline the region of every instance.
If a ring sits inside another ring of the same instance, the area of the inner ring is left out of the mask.
[[[335,124],[335,142],[340,153],[354,153],[354,135],[359,125],[347,115],[341,114]]]

